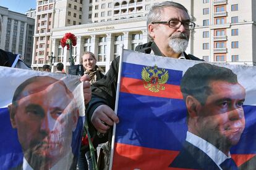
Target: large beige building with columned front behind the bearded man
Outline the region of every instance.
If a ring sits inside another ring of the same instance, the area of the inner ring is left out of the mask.
[[[63,62],[67,70],[69,51],[60,46],[60,40],[65,33],[70,32],[77,36],[77,46],[73,50],[75,63],[80,63],[83,53],[90,51],[98,57],[97,64],[108,71],[111,61],[119,55],[119,44],[133,50],[138,44],[149,41],[147,14],[156,2],[163,0],[56,0],[53,2],[55,12],[51,13],[54,15],[53,27],[45,39],[45,42],[49,42],[49,49],[46,49],[45,53],[40,53],[40,50],[35,52],[32,67],[40,70],[43,64],[49,63],[47,56],[53,52],[56,57],[53,65]],[[254,65],[254,0],[176,2],[189,10],[192,20],[196,23],[195,30],[190,34],[187,53],[208,62]],[[38,41],[35,39],[35,43]],[[35,49],[38,46],[40,47],[39,42],[35,44]],[[42,52],[43,50],[45,49],[41,49]]]

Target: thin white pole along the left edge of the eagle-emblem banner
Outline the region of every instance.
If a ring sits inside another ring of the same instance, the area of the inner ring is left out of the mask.
[[[124,44],[120,44],[119,54],[120,54],[120,59],[119,59],[119,69],[118,69],[118,78],[117,78],[116,103],[115,103],[115,108],[114,108],[114,113],[116,113],[116,114],[117,114],[118,100],[119,100],[119,91],[120,91],[120,85],[121,85],[122,57],[123,57],[123,54],[124,54]],[[115,140],[115,137],[116,137],[116,123],[114,123],[114,126],[113,126],[109,169],[112,169],[112,166],[113,166],[114,140]]]

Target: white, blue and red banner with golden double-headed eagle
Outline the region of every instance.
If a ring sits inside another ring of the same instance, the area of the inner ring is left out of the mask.
[[[112,169],[256,167],[256,68],[124,50]]]

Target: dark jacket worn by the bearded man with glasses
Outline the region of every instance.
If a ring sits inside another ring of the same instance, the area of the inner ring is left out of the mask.
[[[155,55],[161,54],[160,50],[156,46],[155,42],[148,42],[146,44],[139,45],[135,48],[135,51],[143,52],[146,54],[150,54],[151,51],[154,52]],[[187,55],[184,52],[186,59],[188,60],[200,60],[194,55]],[[117,76],[118,76],[118,68],[119,68],[119,57],[113,60],[111,66],[106,73],[105,77],[100,79],[99,81],[92,84],[92,99],[87,105],[87,118],[89,120],[88,125],[89,128],[94,128],[91,123],[91,118],[93,111],[100,105],[108,105],[114,110],[114,105],[116,101],[116,87],[117,87]]]

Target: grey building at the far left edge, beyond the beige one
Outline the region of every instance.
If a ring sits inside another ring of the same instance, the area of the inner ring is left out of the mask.
[[[1,6],[0,17],[2,17],[0,48],[22,55],[24,62],[31,65],[35,20]]]

